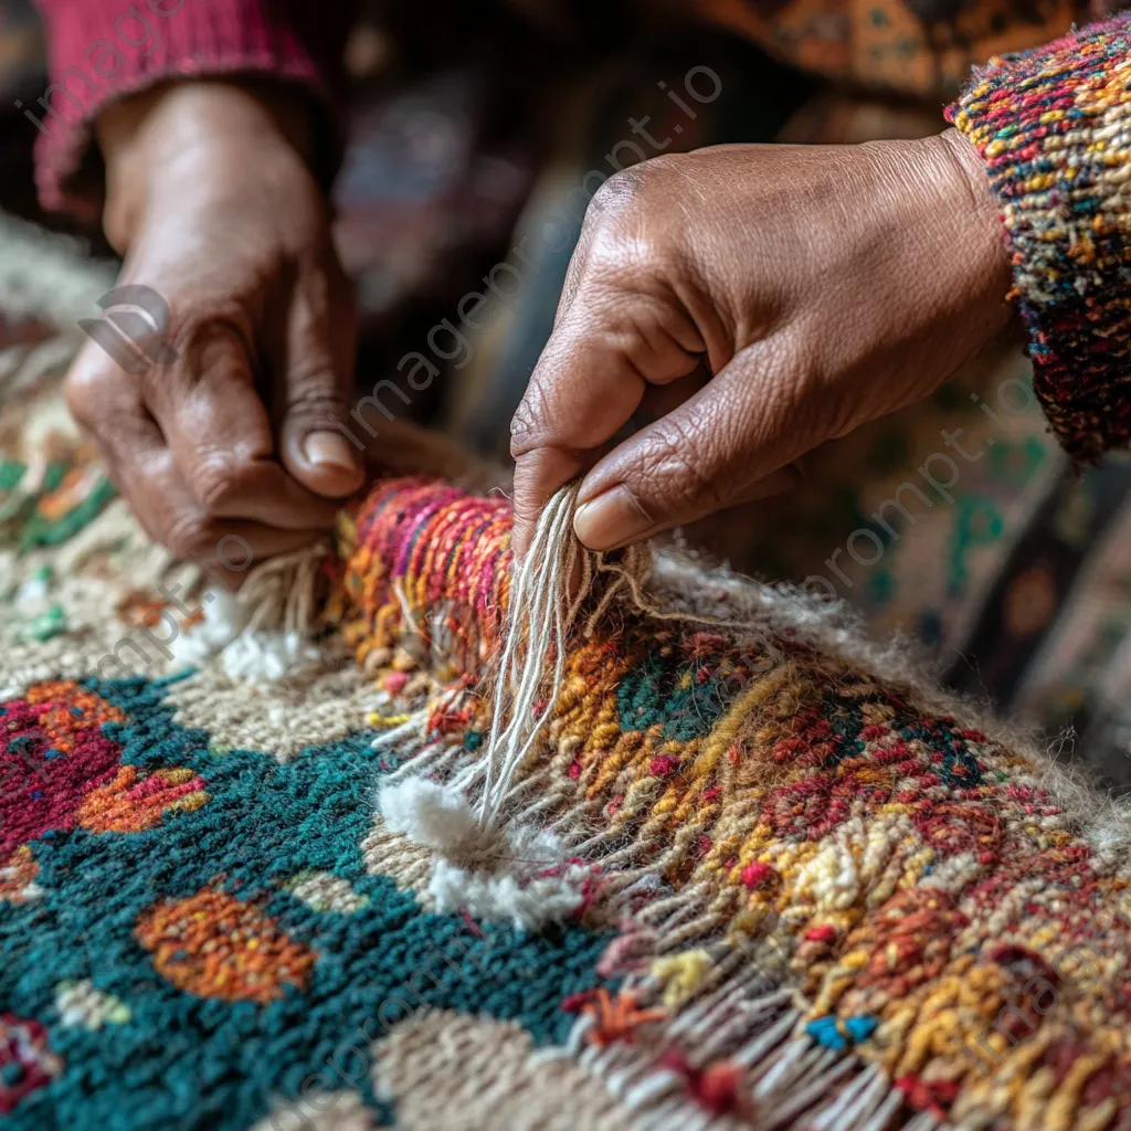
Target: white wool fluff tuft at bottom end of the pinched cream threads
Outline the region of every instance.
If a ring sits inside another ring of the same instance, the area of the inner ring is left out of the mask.
[[[552,834],[485,831],[461,792],[423,778],[382,786],[378,804],[391,831],[439,854],[429,892],[441,914],[467,912],[484,922],[537,931],[581,906],[589,870],[564,863]]]

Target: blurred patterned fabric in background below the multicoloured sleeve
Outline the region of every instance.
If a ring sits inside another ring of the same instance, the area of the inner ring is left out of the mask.
[[[1131,460],[1073,470],[1011,354],[819,452],[810,482],[749,508],[745,547],[732,533],[726,549],[763,576],[823,578],[873,634],[910,637],[948,684],[1065,732],[1065,753],[1080,743],[1125,785],[1126,736],[1095,720],[1131,687],[1129,502]]]

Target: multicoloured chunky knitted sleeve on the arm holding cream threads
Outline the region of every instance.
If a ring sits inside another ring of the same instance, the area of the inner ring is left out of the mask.
[[[1131,442],[1131,14],[976,70],[947,116],[1001,206],[1034,388],[1067,451]]]

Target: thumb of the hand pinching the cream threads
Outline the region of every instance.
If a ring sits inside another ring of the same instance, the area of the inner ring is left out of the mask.
[[[818,421],[806,428],[792,398],[753,404],[751,385],[727,366],[605,456],[578,494],[578,539],[615,550],[801,483],[794,460],[824,439]]]

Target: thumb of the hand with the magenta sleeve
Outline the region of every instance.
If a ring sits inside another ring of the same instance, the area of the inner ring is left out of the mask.
[[[353,319],[296,295],[280,390],[279,455],[303,486],[330,499],[365,481],[363,452],[346,431],[353,374]]]

